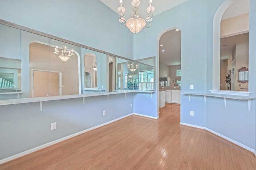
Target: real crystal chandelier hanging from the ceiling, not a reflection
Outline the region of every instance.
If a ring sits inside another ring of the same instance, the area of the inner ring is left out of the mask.
[[[121,23],[121,28],[128,27],[133,33],[138,33],[143,27],[150,27],[150,22],[153,20],[152,17],[155,7],[152,6],[152,0],[149,1],[149,4],[150,6],[147,8],[148,17],[146,19],[142,19],[138,11],[140,0],[132,0],[132,15],[128,20],[126,20],[124,19],[125,8],[122,7],[122,0],[120,0],[120,7],[118,7],[117,10],[119,12],[119,22]]]

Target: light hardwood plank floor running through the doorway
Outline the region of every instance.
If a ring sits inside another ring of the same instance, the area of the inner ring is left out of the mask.
[[[256,170],[252,152],[179,125],[180,105],[158,120],[132,115],[0,165],[1,170]]]

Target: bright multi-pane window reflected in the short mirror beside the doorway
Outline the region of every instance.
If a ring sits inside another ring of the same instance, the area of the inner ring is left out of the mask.
[[[154,70],[139,72],[139,90],[154,90]]]

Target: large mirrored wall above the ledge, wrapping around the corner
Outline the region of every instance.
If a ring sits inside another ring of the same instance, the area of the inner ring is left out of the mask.
[[[154,92],[154,57],[131,61],[10,25],[0,24],[0,100]]]

